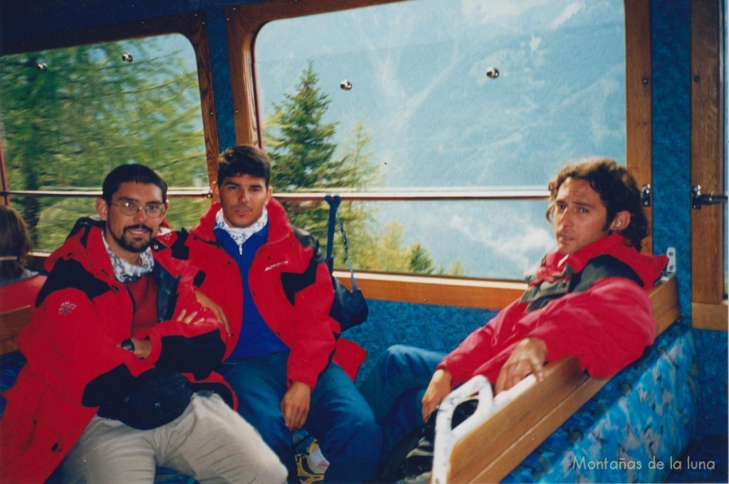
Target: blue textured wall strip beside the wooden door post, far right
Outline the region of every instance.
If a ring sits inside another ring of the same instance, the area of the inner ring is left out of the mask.
[[[654,252],[676,247],[683,320],[691,322],[690,0],[652,0]],[[727,433],[727,333],[694,329],[698,437]]]

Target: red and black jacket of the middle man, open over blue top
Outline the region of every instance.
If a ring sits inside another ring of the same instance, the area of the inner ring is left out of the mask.
[[[200,269],[200,289],[225,311],[233,333],[227,340],[228,357],[241,333],[243,286],[237,264],[214,234],[218,210],[220,204],[213,204],[189,234],[180,231],[161,239],[172,248],[174,257],[189,260]],[[339,337],[339,323],[329,315],[334,293],[319,242],[308,232],[292,228],[276,199],[270,200],[267,210],[268,240],[256,253],[248,283],[261,317],[291,350],[286,378],[313,389],[334,355],[335,362],[354,379],[366,353]]]

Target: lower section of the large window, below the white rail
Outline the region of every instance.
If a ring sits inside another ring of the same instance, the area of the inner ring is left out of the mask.
[[[307,226],[326,245],[325,202],[284,206],[294,225]],[[339,213],[356,268],[521,279],[542,255],[554,250],[546,207],[547,202],[502,200],[342,202]],[[504,239],[510,242],[504,244]],[[335,265],[346,268],[339,229],[334,240]]]

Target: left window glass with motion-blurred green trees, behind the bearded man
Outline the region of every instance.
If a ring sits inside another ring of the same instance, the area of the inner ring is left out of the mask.
[[[98,191],[130,162],[172,188],[208,186],[195,51],[182,35],[0,57],[0,103],[11,190]],[[48,233],[55,213],[85,215],[86,202],[20,197],[13,206],[52,248],[71,229],[64,220]]]

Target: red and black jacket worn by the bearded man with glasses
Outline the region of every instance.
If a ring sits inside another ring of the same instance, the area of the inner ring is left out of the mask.
[[[198,304],[189,283],[190,269],[174,261],[170,250],[157,241],[152,242],[153,274],[159,287],[161,322],[147,335],[152,354],[139,360],[117,346],[131,336],[133,301],[114,279],[101,227],[90,219],[79,220],[47,261],[52,269],[39,305],[20,335],[20,349],[28,362],[4,394],[2,483],[47,479],[98,410],[83,402],[93,399],[90,389],[98,388],[99,382],[118,388],[157,364],[176,365],[194,389],[206,386],[233,403],[230,387],[211,373],[222,357],[225,332],[213,313]],[[204,322],[177,322],[182,309],[187,314],[197,311]],[[112,378],[122,374],[124,381]]]

